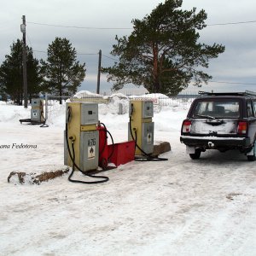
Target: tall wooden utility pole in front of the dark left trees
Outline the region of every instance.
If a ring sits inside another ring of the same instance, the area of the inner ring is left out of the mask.
[[[22,24],[20,31],[23,33],[22,47],[22,67],[23,67],[23,92],[24,92],[24,108],[27,108],[27,78],[26,78],[26,16],[22,16]],[[22,99],[21,99],[22,101]]]

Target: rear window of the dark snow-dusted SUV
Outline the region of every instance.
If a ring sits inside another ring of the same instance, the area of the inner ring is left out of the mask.
[[[200,101],[193,113],[196,118],[238,118],[239,115],[238,101]]]

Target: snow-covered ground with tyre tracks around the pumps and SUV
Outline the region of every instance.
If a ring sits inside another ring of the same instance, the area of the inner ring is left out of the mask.
[[[67,175],[8,183],[13,171],[64,167],[65,107],[56,108],[40,128],[20,125],[30,109],[0,102],[0,145],[10,145],[0,147],[0,255],[256,255],[256,163],[236,151],[190,160],[179,142],[189,106],[154,113],[154,140],[172,146],[167,161],[133,161],[94,185]],[[117,114],[116,101],[99,116],[115,143],[127,140],[128,114]],[[20,143],[36,148],[13,147]]]

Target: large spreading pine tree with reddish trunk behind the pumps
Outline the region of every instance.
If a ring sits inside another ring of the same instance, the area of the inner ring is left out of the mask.
[[[166,0],[143,20],[132,20],[133,32],[118,38],[111,54],[118,57],[113,67],[102,68],[113,82],[113,90],[124,84],[143,85],[149,92],[177,95],[191,81],[201,86],[212,79],[199,67],[207,68],[211,58],[224,52],[220,44],[198,43],[206,27],[207,14],[180,9],[183,1]]]

